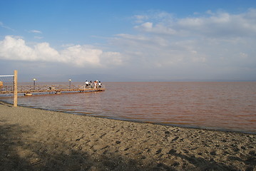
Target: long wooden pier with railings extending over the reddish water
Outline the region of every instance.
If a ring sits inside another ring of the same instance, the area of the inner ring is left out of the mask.
[[[61,93],[61,92],[95,92],[105,91],[105,88],[88,88],[79,85],[36,85],[36,86],[17,86],[17,93],[32,95],[33,93]],[[14,86],[0,86],[0,94],[14,93]]]

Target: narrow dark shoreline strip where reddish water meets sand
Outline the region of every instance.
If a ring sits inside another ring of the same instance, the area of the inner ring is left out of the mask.
[[[6,103],[9,105],[13,105],[12,103],[5,102],[3,100],[0,100],[0,103]],[[53,111],[53,112],[59,112],[59,113],[68,113],[72,115],[83,115],[79,113],[72,113],[68,111],[62,111],[62,110],[50,110],[50,109],[45,109],[45,108],[36,108],[32,106],[26,106],[26,105],[19,105],[20,107],[23,108],[34,108],[34,109],[39,109],[39,110],[46,110],[46,111]],[[120,120],[120,121],[126,121],[126,122],[131,122],[131,123],[148,123],[148,124],[153,124],[153,125],[163,125],[163,126],[170,126],[170,127],[178,127],[178,128],[188,128],[188,129],[196,129],[196,130],[213,130],[213,131],[220,131],[220,132],[225,132],[225,133],[243,133],[243,134],[252,134],[256,135],[255,132],[247,132],[247,131],[242,131],[242,130],[229,130],[225,128],[208,128],[208,127],[199,127],[199,126],[186,126],[186,125],[175,125],[175,124],[165,124],[165,123],[151,123],[151,122],[143,122],[140,120],[126,120],[126,119],[118,119],[118,118],[111,118],[108,116],[97,116],[97,115],[84,115],[84,116],[89,116],[89,117],[95,117],[95,118],[105,118],[109,120]]]

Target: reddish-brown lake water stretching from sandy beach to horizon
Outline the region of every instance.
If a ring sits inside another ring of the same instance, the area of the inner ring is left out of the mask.
[[[256,133],[256,82],[105,83],[98,93],[19,97],[19,105],[120,120]]]

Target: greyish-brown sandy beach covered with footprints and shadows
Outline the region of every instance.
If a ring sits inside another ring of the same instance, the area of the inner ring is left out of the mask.
[[[256,135],[0,102],[1,170],[256,170]]]

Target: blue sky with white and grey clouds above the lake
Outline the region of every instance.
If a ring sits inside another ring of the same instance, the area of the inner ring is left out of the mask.
[[[0,0],[0,76],[256,81],[255,0]]]

